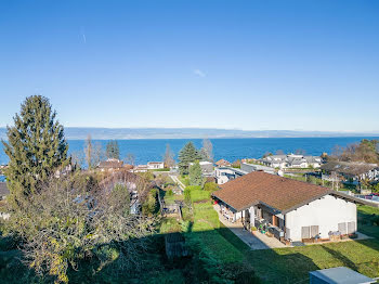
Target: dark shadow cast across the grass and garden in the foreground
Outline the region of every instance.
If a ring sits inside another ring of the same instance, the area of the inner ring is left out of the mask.
[[[309,272],[318,266],[299,248],[251,250],[227,228],[201,232],[184,233],[185,245],[191,254],[169,258],[166,254],[167,234],[146,237],[146,250],[140,255],[140,267],[118,270],[120,259],[109,261],[99,270],[99,261],[86,258],[78,269],[68,271],[70,283],[308,283]],[[131,241],[132,242],[132,241]],[[373,249],[378,242],[360,242]],[[318,246],[318,245],[317,245]],[[336,251],[322,245],[334,259],[354,270],[358,267]],[[11,253],[14,254],[14,253]],[[1,256],[1,254],[0,254]],[[1,260],[0,260],[1,261]],[[22,267],[21,267],[22,266]],[[50,283],[41,280],[32,270],[18,262],[10,264],[10,259],[0,263],[1,283]],[[260,280],[258,279],[260,277]]]

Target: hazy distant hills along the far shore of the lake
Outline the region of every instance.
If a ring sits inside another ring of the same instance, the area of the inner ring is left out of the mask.
[[[311,138],[311,137],[379,137],[376,133],[292,131],[292,130],[238,130],[214,128],[86,128],[66,127],[66,139],[202,139],[202,138]],[[6,129],[0,128],[0,139],[6,138]]]

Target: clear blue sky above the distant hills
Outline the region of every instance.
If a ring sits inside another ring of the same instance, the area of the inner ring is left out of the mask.
[[[0,1],[0,126],[379,131],[379,1]]]

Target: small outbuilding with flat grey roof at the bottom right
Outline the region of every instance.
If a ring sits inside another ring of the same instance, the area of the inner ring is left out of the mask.
[[[370,284],[376,280],[350,268],[339,267],[310,272],[310,284]]]

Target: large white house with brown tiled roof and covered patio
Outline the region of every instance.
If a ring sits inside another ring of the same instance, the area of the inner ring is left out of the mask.
[[[220,209],[245,227],[264,225],[285,241],[356,232],[356,203],[365,201],[292,179],[254,171],[212,194]]]

